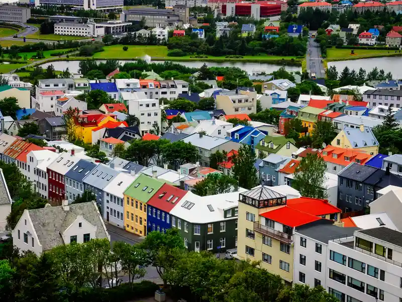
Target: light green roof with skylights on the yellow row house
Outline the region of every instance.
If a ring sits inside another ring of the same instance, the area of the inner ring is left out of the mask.
[[[147,203],[164,183],[164,181],[142,174],[124,191],[124,194]]]

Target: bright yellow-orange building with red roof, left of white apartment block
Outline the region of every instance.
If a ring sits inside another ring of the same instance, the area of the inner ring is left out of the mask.
[[[116,122],[116,115],[107,114],[81,114],[74,118],[75,134],[85,143],[92,143],[92,130],[106,124]]]

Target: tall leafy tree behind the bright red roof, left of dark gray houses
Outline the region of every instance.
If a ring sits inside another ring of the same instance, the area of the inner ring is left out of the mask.
[[[327,198],[325,172],[327,163],[317,154],[308,154],[296,168],[293,187],[305,197]]]

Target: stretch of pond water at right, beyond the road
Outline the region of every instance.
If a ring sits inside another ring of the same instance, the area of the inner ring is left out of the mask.
[[[355,69],[356,71],[361,67],[367,72],[371,71],[374,67],[377,67],[378,69],[384,69],[385,73],[391,72],[394,79],[402,79],[402,68],[400,68],[401,63],[402,57],[382,57],[328,62],[328,67],[335,66],[339,73],[341,73],[342,69],[346,66],[348,66],[349,69]]]

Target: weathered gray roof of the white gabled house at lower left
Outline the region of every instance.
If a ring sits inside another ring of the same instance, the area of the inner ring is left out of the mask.
[[[64,244],[61,234],[78,215],[96,227],[96,238],[109,238],[102,217],[93,201],[70,204],[68,211],[65,211],[63,206],[47,206],[28,210],[28,214],[44,251]]]

